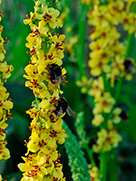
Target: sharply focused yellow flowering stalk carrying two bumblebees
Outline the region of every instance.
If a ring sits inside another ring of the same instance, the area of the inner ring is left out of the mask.
[[[34,12],[24,20],[32,31],[26,38],[31,61],[25,67],[25,85],[33,90],[35,101],[27,111],[32,122],[31,136],[26,142],[28,151],[23,157],[25,163],[18,165],[24,172],[22,181],[65,180],[57,151],[57,144],[63,144],[67,137],[62,128],[67,102],[59,97],[63,93],[60,84],[66,83],[66,70],[61,67],[65,35],[55,33],[56,28],[63,26],[60,12],[51,7],[55,3],[35,1]]]

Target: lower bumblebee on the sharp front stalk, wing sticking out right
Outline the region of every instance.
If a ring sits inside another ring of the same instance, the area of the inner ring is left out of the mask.
[[[56,116],[61,116],[67,112],[69,116],[77,117],[76,113],[68,106],[68,102],[63,97],[57,100],[57,105],[55,107],[54,113]]]

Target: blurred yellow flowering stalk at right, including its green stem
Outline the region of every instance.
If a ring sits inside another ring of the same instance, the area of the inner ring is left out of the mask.
[[[87,1],[88,2],[88,1]],[[107,180],[108,154],[111,151],[115,159],[114,149],[122,140],[117,132],[117,124],[126,118],[125,111],[117,107],[123,78],[131,80],[134,72],[134,60],[129,56],[132,33],[136,33],[136,14],[133,12],[134,1],[96,0],[91,2],[88,13],[88,23],[93,26],[89,48],[89,67],[91,78],[82,78],[78,85],[82,92],[94,97],[94,118],[92,124],[99,126],[98,139],[93,145],[93,151],[100,154],[100,170],[102,180]],[[128,31],[127,46],[120,41],[119,24]],[[91,88],[89,89],[89,86]],[[113,151],[113,152],[112,152]],[[114,166],[113,166],[114,167]],[[91,168],[93,170],[93,167]],[[115,171],[115,168],[112,168]],[[111,171],[111,172],[112,172]],[[92,171],[90,172],[92,173]],[[115,171],[116,173],[116,171]],[[113,173],[112,180],[116,180]],[[93,177],[97,180],[98,177]]]

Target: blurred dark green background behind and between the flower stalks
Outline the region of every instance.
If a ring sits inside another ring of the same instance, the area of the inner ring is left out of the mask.
[[[74,34],[77,33],[78,21],[78,1],[72,1],[72,23],[74,25]],[[26,14],[33,11],[34,3],[32,0],[3,0],[1,9],[3,10],[4,18],[2,25],[4,26],[3,37],[7,37],[10,43],[6,46],[6,60],[8,64],[14,66],[12,76],[6,83],[10,97],[14,102],[14,108],[11,111],[13,119],[8,121],[8,133],[7,133],[7,147],[10,149],[11,158],[7,161],[0,163],[0,174],[6,180],[18,181],[21,178],[21,173],[17,167],[17,164],[22,162],[21,156],[26,153],[26,147],[24,146],[24,140],[28,140],[30,135],[29,124],[30,118],[25,113],[31,107],[31,102],[34,99],[32,91],[24,86],[25,79],[23,78],[24,67],[28,64],[30,56],[26,53],[25,47],[26,36],[29,34],[29,27],[23,24]],[[66,23],[64,23],[66,26]],[[86,26],[86,44],[85,60],[88,60],[89,53],[89,28]],[[126,35],[124,35],[126,36]],[[68,37],[67,37],[68,39]],[[136,39],[133,37],[132,48],[130,57],[136,59]],[[90,148],[96,138],[97,128],[93,128],[91,125],[92,109],[90,102],[86,95],[80,93],[80,88],[76,86],[77,75],[80,75],[78,65],[75,62],[69,61],[68,55],[64,58],[63,67],[67,70],[68,84],[66,87],[62,86],[64,91],[64,97],[68,100],[70,107],[77,113],[84,111],[85,115],[85,130],[90,135]],[[87,69],[87,68],[86,68]],[[87,69],[88,72],[88,69]],[[88,74],[89,76],[89,74]],[[118,148],[118,175],[119,181],[136,181],[136,76],[130,82],[124,82],[122,87],[122,94],[119,100],[119,106],[128,111],[128,122],[122,122],[119,125],[120,134],[123,137],[123,141]],[[74,127],[74,119],[64,117],[65,122],[68,124],[72,132],[76,135]],[[64,145],[59,146],[59,151],[62,155],[61,162],[64,165],[63,171],[68,181],[71,181],[71,172],[68,166],[68,157],[65,153]],[[85,151],[84,151],[85,152]],[[97,164],[98,155],[95,154]],[[85,152],[85,157],[88,161],[88,156]]]

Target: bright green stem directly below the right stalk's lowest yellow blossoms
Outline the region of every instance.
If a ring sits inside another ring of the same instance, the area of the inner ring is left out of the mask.
[[[102,181],[107,181],[107,152],[101,153],[100,155],[100,171],[102,173]]]

